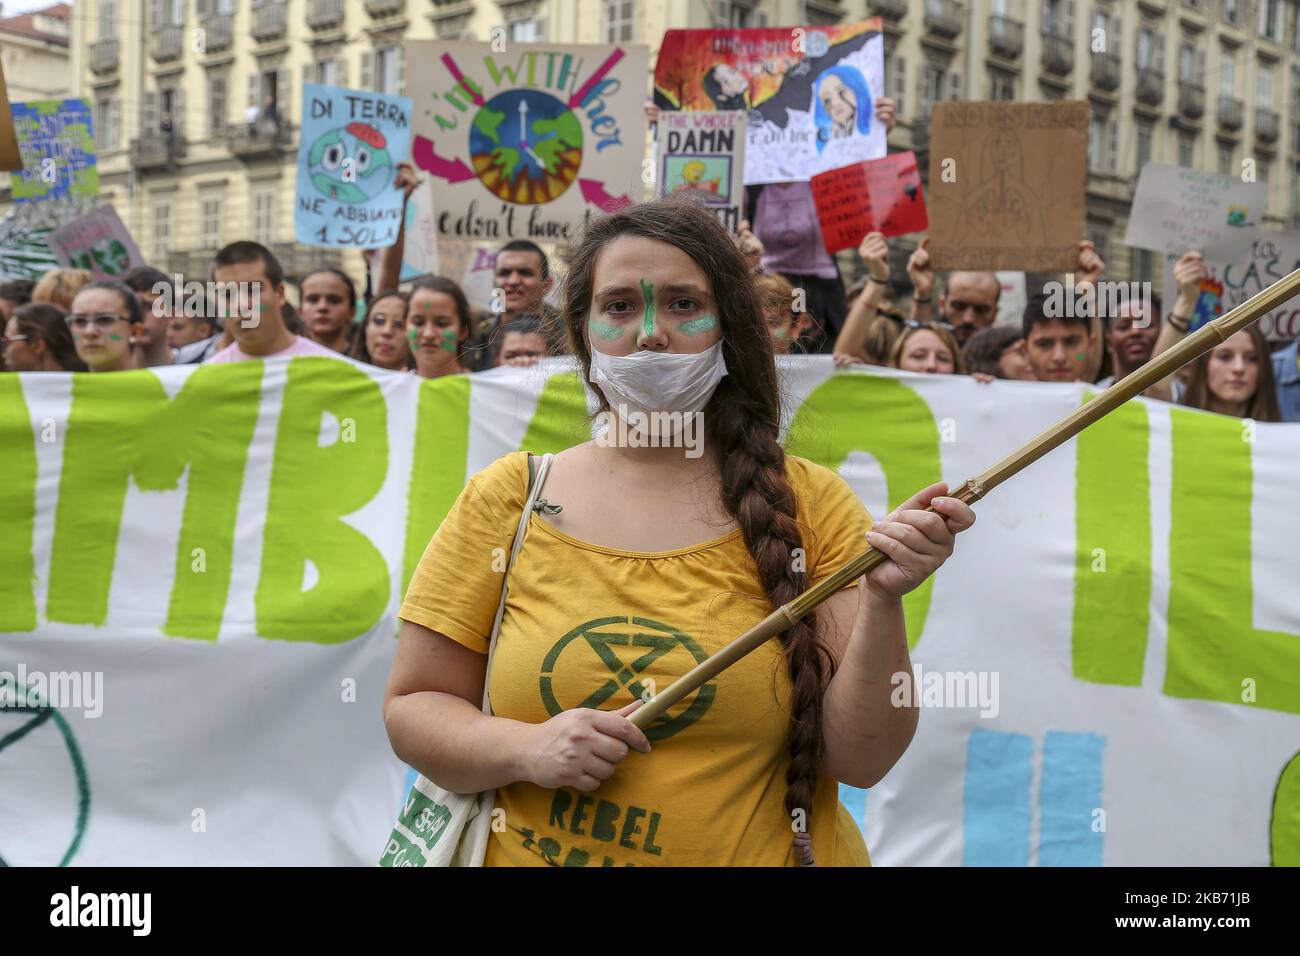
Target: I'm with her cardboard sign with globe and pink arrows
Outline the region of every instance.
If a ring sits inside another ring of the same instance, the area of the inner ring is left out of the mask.
[[[412,161],[437,190],[438,235],[576,237],[644,191],[642,46],[410,40]]]

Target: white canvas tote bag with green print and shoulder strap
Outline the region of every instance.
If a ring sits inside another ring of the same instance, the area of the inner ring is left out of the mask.
[[[497,619],[491,626],[491,639],[488,641],[488,669],[484,671],[485,714],[491,715],[488,700],[488,675],[491,674],[491,658],[497,650],[497,636],[500,633],[500,619],[506,613],[506,592],[510,568],[524,544],[528,519],[537,505],[537,496],[546,481],[554,455],[542,455],[533,475],[534,457],[528,457],[528,503],[519,516],[515,529],[515,542],[510,549],[506,574],[502,575],[500,601],[497,605]],[[547,510],[558,510],[554,505]],[[491,830],[491,809],[497,799],[495,790],[480,793],[452,793],[443,790],[424,774],[416,778],[407,795],[402,817],[393,827],[389,842],[380,857],[380,866],[482,866],[488,853],[488,836]]]

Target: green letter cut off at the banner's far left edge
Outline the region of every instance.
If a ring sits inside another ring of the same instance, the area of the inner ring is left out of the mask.
[[[36,436],[16,375],[0,375],[0,632],[36,630]]]

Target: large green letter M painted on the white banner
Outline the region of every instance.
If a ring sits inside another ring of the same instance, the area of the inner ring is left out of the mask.
[[[51,620],[104,623],[127,480],[166,492],[187,475],[162,632],[216,640],[260,399],[260,362],[200,367],[170,401],[148,371],[73,378],[46,601]],[[194,570],[195,549],[204,555],[202,572]]]

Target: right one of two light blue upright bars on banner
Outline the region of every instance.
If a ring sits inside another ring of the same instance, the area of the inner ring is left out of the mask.
[[[1101,866],[1104,832],[1093,830],[1101,806],[1101,754],[1096,734],[1048,731],[1039,784],[1039,866]]]

